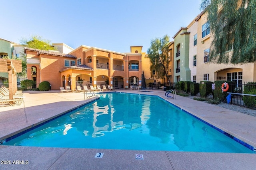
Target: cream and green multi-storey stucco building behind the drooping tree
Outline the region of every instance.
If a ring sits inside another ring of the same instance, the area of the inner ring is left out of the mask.
[[[209,63],[212,36],[205,12],[198,15],[188,27],[181,27],[174,35],[174,82],[256,82],[256,63]]]

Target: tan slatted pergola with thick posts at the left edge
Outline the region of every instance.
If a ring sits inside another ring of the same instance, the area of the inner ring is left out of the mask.
[[[0,72],[8,72],[9,99],[13,99],[17,92],[17,72],[22,72],[22,61],[12,59],[0,59]]]

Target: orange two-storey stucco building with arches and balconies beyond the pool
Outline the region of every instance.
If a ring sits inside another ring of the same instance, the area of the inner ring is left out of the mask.
[[[141,86],[142,76],[151,77],[147,64],[149,60],[146,53],[142,52],[142,46],[132,46],[130,53],[85,45],[68,54],[30,48],[24,50],[27,55],[28,79],[34,80],[37,87],[40,82],[48,81],[52,90],[67,85],[71,89],[78,85],[96,87],[106,82],[113,88],[129,88],[131,85]]]

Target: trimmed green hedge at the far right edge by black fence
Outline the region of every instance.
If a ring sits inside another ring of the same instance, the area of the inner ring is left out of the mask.
[[[256,82],[248,82],[244,86],[244,94],[256,95]],[[256,107],[256,96],[244,96],[243,100],[246,107]]]

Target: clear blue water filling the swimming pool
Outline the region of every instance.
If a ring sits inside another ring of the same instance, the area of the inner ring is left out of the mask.
[[[156,96],[108,93],[4,145],[253,153]]]

